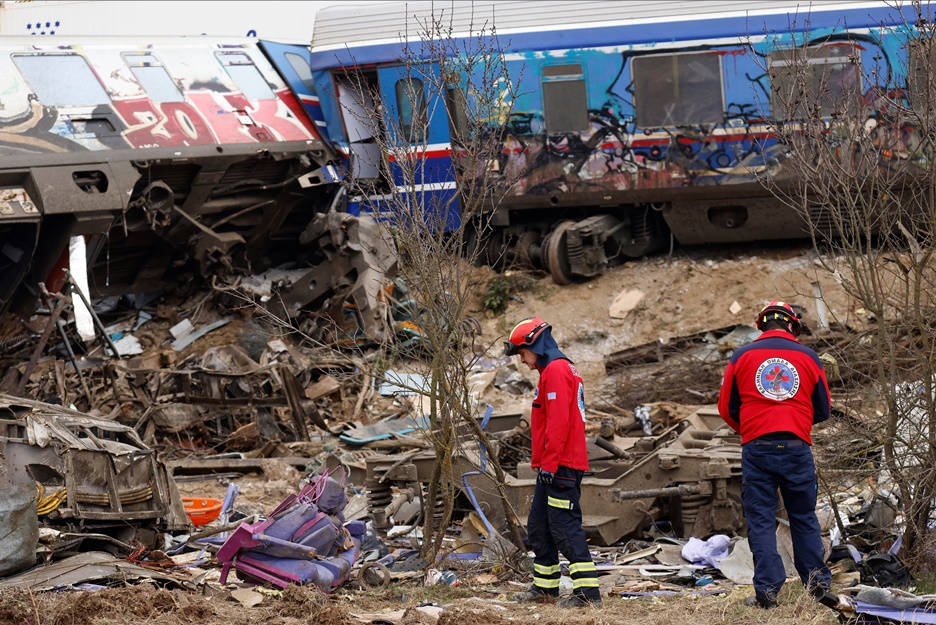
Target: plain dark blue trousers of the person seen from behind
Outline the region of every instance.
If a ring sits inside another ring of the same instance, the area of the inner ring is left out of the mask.
[[[786,580],[777,553],[777,489],[790,519],[793,562],[803,585],[826,589],[832,574],[816,519],[816,466],[812,450],[802,441],[751,441],[741,450],[741,497],[754,554],[754,592],[776,599]]]

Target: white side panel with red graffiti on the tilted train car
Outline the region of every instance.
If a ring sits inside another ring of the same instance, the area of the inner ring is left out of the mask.
[[[247,45],[0,46],[0,146],[63,152],[303,141],[314,126]],[[2,149],[2,147],[0,147]]]

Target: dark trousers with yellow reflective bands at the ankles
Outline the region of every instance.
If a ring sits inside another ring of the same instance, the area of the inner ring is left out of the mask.
[[[559,594],[559,552],[569,561],[572,594],[600,601],[595,568],[582,529],[583,471],[560,466],[550,485],[536,483],[527,533],[533,549],[533,585],[547,595]]]

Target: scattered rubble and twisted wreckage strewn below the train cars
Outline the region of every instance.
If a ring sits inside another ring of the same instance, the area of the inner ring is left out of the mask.
[[[266,272],[251,296],[274,301],[301,280]],[[382,310],[398,345],[418,346],[405,285],[386,283],[366,297],[366,314]],[[340,588],[338,595],[445,586],[490,593],[488,605],[509,601],[529,562],[504,538],[497,487],[525,524],[535,475],[529,413],[515,406],[532,397],[526,375],[509,359],[475,362],[475,396],[507,398],[507,408],[477,415],[489,449],[469,428],[460,431],[453,525],[443,557],[427,562],[419,557],[421,521],[443,503],[427,492],[436,459],[422,395],[431,380],[405,361],[378,373],[367,345],[379,335],[370,334],[359,303],[340,305],[351,313],[347,336],[363,351],[341,353],[297,340],[288,320],[270,325],[252,309],[229,308],[235,299],[225,287],[142,309],[91,302],[97,339],[84,344],[70,321],[59,323],[70,300],[50,294],[43,317],[0,328],[10,365],[3,388],[21,394],[0,396],[0,486],[9,507],[0,515],[0,588],[120,580],[231,597],[249,610],[287,601],[296,586]],[[623,298],[622,316],[625,308],[639,314],[644,302],[642,291]],[[316,330],[298,313],[293,321]],[[480,322],[467,323],[480,332]],[[739,440],[711,406],[694,404],[714,401],[724,362],[756,334],[729,325],[604,355],[609,377],[643,393],[588,406],[592,470],[582,507],[605,594],[718,596],[750,584]],[[832,324],[805,338],[834,363],[856,336]],[[488,466],[495,455],[502,482]],[[913,583],[888,553],[901,522],[893,498],[860,481],[821,495],[839,609],[883,615],[873,610],[902,601],[900,609],[925,611],[929,597],[882,592]],[[217,517],[200,518],[186,507],[193,499],[213,500]],[[785,529],[781,523],[778,544],[791,565]],[[850,584],[860,584],[853,598],[844,596]],[[878,608],[868,607],[874,602]],[[449,619],[464,605],[431,606],[418,618]]]

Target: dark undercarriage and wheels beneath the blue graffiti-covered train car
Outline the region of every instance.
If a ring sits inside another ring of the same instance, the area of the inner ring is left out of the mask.
[[[593,278],[611,266],[678,242],[683,245],[808,237],[809,225],[759,183],[609,194],[600,205],[581,193],[505,198],[478,250],[491,266],[547,271],[557,284]],[[620,196],[620,197],[618,197]],[[633,203],[634,197],[647,201]],[[630,202],[630,203],[627,203]],[[813,223],[821,220],[811,216]]]

